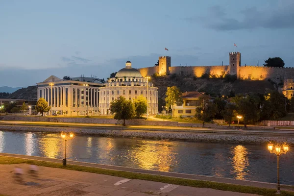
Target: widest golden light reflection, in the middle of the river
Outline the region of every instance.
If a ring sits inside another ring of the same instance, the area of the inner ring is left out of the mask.
[[[168,141],[143,141],[130,156],[142,169],[169,172],[171,166],[177,162],[174,148],[176,148],[175,144]]]

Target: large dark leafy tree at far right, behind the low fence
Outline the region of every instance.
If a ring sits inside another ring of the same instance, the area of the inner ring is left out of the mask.
[[[285,109],[285,96],[277,91],[271,91],[265,96],[262,105],[261,118],[263,120],[276,120],[287,115]]]

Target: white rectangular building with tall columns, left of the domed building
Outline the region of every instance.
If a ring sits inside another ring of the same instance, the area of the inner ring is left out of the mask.
[[[51,75],[37,83],[38,99],[45,98],[51,106],[49,114],[97,115],[99,113],[99,81],[84,82],[60,79]],[[51,91],[52,90],[52,91]]]

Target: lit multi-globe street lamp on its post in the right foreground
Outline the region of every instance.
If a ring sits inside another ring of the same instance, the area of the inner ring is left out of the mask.
[[[279,161],[280,161],[280,155],[286,154],[289,151],[289,145],[285,143],[279,144],[279,143],[269,143],[268,149],[270,153],[273,153],[277,155],[277,177],[278,177],[278,186],[277,186],[277,194],[280,194],[280,173],[279,173]]]

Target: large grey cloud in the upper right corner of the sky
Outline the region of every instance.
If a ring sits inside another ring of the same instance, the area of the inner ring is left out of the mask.
[[[256,7],[248,7],[241,10],[239,15],[232,18],[227,16],[224,8],[215,5],[208,8],[207,16],[192,16],[183,18],[190,23],[202,23],[205,27],[227,31],[255,28],[293,28],[294,3],[281,1],[280,6],[258,10]]]

